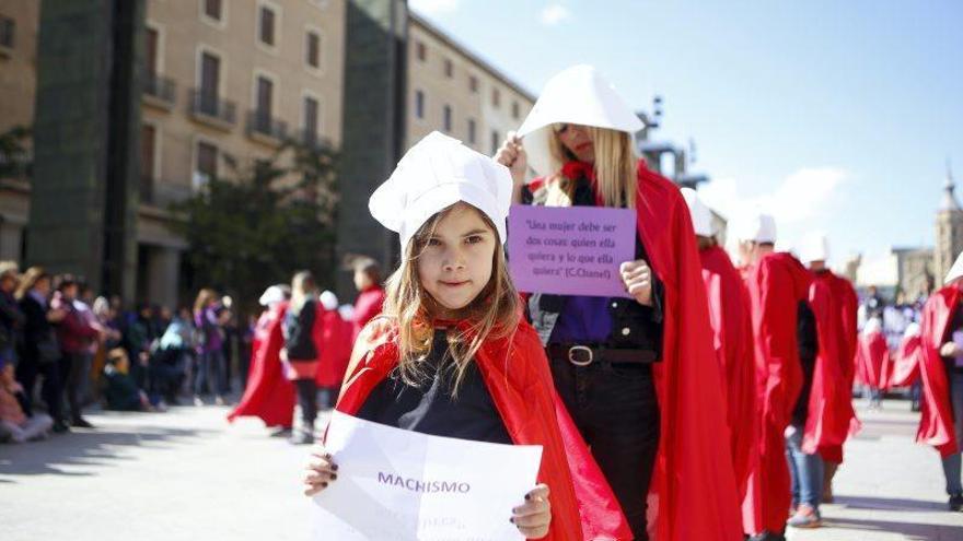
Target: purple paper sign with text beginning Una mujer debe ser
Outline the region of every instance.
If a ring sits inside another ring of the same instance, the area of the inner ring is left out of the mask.
[[[618,267],[635,260],[636,212],[512,205],[509,270],[526,293],[628,297]]]

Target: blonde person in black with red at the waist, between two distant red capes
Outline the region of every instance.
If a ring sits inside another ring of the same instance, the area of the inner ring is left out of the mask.
[[[314,443],[314,420],[317,417],[317,344],[314,326],[317,317],[317,286],[311,272],[301,271],[291,280],[291,304],[285,314],[285,348],[281,361],[288,379],[294,381],[301,407],[301,431],[291,436],[295,445]]]

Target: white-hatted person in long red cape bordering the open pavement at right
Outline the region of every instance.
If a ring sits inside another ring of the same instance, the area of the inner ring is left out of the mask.
[[[823,360],[832,361],[832,366],[820,371],[820,386],[811,408],[819,420],[808,426],[807,435],[811,438],[819,434],[815,448],[823,458],[823,495],[822,503],[833,502],[833,478],[843,463],[843,444],[859,431],[859,420],[852,409],[854,357],[856,355],[857,329],[856,313],[859,298],[852,284],[845,278],[836,275],[826,266],[829,257],[828,239],[823,234],[810,236],[800,249],[800,257],[813,273],[815,286],[810,292],[810,302],[816,311],[820,331],[821,353]],[[825,287],[826,295],[819,295]],[[816,304],[820,310],[816,310]],[[823,309],[824,308],[824,309]],[[823,337],[823,334],[827,334]],[[832,334],[832,337],[829,336]],[[832,341],[833,349],[824,349],[823,344]],[[832,392],[832,395],[829,395]],[[822,404],[823,409],[820,409]],[[808,448],[812,448],[808,446]]]

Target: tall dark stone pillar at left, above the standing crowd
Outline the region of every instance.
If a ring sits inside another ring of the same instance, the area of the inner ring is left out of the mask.
[[[44,0],[27,263],[134,298],[144,0]]]

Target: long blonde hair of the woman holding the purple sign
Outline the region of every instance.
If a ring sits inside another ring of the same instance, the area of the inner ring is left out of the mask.
[[[638,156],[633,146],[631,136],[625,131],[594,126],[589,126],[588,131],[595,146],[595,180],[605,207],[635,209],[638,191],[636,180]],[[576,157],[561,144],[555,130],[550,130],[548,136],[548,150],[552,155],[552,170],[556,172],[554,176],[561,183],[558,187],[571,201],[576,187],[570,180],[575,179],[561,178],[560,172],[566,162]]]

